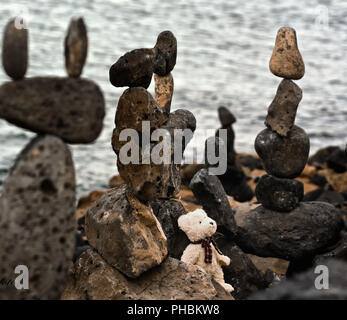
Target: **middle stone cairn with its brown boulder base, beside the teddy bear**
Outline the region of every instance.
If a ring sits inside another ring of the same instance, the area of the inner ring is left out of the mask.
[[[187,238],[177,225],[177,218],[186,212],[174,199],[181,186],[180,162],[173,161],[174,145],[164,163],[154,163],[152,158],[145,162],[142,152],[151,153],[165,141],[182,143],[184,151],[195,130],[191,112],[170,112],[176,56],[176,38],[164,31],[154,48],[128,52],[110,68],[110,82],[128,87],[118,101],[112,135],[125,183],[107,191],[87,211],[85,231],[91,247],[73,266],[63,299],[232,298],[209,275],[178,260]],[[146,90],[153,74],[155,98]],[[144,143],[144,121],[149,124],[147,133],[166,129],[169,140],[153,138]],[[139,163],[122,162],[122,147],[129,143],[122,139],[124,129],[139,133],[133,144],[137,147],[133,150],[139,151]],[[177,137],[174,129],[192,133]]]

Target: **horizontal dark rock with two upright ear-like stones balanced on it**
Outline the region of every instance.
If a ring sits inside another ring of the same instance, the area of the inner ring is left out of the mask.
[[[15,28],[14,20],[5,29],[3,65],[14,80],[24,77],[28,65],[27,54],[23,54],[28,51],[27,34],[27,30]],[[105,102],[97,84],[77,77],[86,54],[83,19],[72,20],[65,41],[69,77],[39,76],[4,83],[0,87],[0,118],[36,133],[58,136],[67,143],[93,142],[103,127]],[[19,72],[11,65],[23,67]]]

